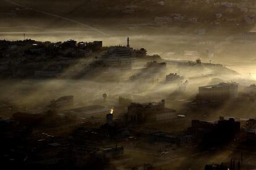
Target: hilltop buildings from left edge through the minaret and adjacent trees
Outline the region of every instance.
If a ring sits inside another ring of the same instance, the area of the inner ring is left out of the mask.
[[[72,78],[77,70],[81,75],[95,75],[102,71],[127,71],[135,59],[147,59],[147,50],[127,46],[103,47],[102,41],[40,42],[0,41],[0,70],[2,77],[16,78]],[[81,59],[91,59],[87,63]],[[159,56],[150,56],[158,60]],[[50,62],[46,62],[50,61]],[[24,67],[24,65],[26,67]]]

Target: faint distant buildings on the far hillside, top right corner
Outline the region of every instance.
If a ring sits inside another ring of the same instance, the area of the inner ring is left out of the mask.
[[[183,1],[184,4],[180,6],[191,6],[191,10],[196,5],[204,6],[206,9],[212,10],[212,15],[215,17],[207,17],[197,14],[194,15],[182,13],[173,13],[170,15],[162,15],[155,17],[156,25],[173,25],[175,22],[186,22],[186,23],[202,23],[206,19],[211,20],[212,26],[223,26],[223,25],[240,25],[247,24],[252,25],[255,23],[256,5],[254,1]],[[173,4],[175,6],[175,4]],[[218,9],[218,10],[213,10]],[[216,12],[215,12],[216,11]],[[235,17],[234,14],[241,17]],[[195,31],[200,35],[204,35],[207,32],[207,28],[200,28]]]

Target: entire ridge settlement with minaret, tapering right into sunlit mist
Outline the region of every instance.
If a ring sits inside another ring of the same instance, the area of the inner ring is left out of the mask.
[[[104,81],[120,81],[121,79],[165,81],[166,79],[166,82],[170,83],[182,81],[184,77],[190,76],[185,73],[186,71],[197,73],[195,77],[191,78],[216,74],[236,74],[235,71],[222,65],[201,63],[200,59],[195,62],[177,62],[161,59],[157,54],[148,55],[144,48],[133,49],[130,47],[129,38],[127,38],[126,46],[109,47],[104,47],[103,41],[2,40],[0,41],[0,60],[0,76],[2,78],[95,79],[98,78],[98,75],[104,75],[106,78]],[[203,74],[205,69],[209,74]],[[177,75],[176,71],[184,75]],[[163,73],[161,78],[160,73]],[[198,73],[202,74],[198,75]],[[114,75],[118,75],[119,78],[117,79]]]

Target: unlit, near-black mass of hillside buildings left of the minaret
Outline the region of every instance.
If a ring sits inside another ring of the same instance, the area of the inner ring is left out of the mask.
[[[53,78],[75,63],[102,50],[102,41],[40,42],[32,39],[24,41],[0,41],[0,66],[3,77]],[[51,61],[45,63],[46,60]],[[27,67],[24,67],[27,66]]]

